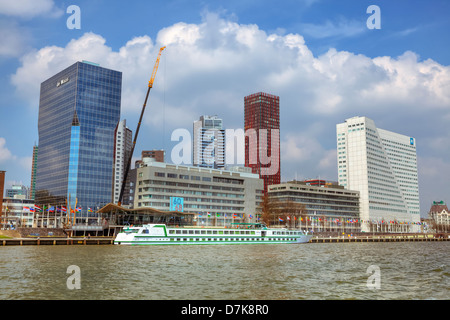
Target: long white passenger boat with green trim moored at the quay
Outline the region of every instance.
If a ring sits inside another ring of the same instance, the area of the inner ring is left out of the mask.
[[[312,235],[301,230],[267,228],[263,223],[236,223],[225,227],[170,227],[146,224],[125,227],[114,244],[121,245],[201,245],[201,244],[264,244],[306,243]]]

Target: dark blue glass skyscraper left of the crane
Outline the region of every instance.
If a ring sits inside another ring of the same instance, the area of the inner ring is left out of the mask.
[[[122,73],[77,62],[41,84],[36,204],[88,212],[112,196]]]

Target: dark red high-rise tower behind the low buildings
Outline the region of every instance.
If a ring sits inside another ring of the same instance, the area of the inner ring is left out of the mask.
[[[267,186],[279,184],[281,177],[280,97],[254,93],[244,98],[244,109],[245,166],[260,175],[267,193]]]

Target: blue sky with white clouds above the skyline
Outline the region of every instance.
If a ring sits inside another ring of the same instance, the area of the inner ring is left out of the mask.
[[[41,82],[82,60],[121,71],[134,132],[166,46],[135,158],[164,149],[170,162],[172,133],[201,115],[242,129],[244,97],[267,92],[280,97],[282,181],[337,181],[336,124],[366,116],[416,139],[425,217],[450,203],[449,15],[446,0],[0,0],[6,187],[30,185]]]

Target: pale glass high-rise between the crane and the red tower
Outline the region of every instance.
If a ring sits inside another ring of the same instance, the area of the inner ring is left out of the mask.
[[[194,121],[194,166],[223,169],[225,167],[225,130],[217,116],[201,116]]]

